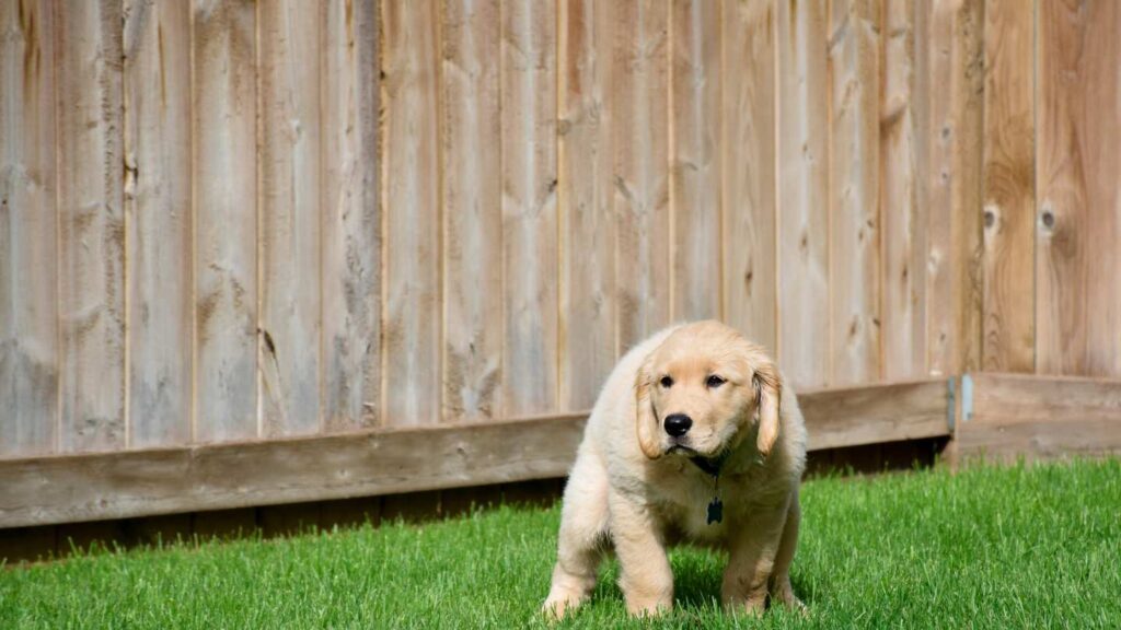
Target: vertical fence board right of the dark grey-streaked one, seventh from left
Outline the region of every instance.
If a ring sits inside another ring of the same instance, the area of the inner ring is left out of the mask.
[[[433,424],[439,420],[443,348],[439,15],[436,0],[386,0],[381,19],[385,417],[395,425]]]

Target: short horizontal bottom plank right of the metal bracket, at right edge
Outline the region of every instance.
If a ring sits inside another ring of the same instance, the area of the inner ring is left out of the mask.
[[[956,426],[960,460],[1121,453],[1121,381],[974,373],[972,415]]]

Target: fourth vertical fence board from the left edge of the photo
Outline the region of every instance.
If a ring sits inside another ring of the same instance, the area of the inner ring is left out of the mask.
[[[258,435],[256,7],[192,4],[195,426]]]

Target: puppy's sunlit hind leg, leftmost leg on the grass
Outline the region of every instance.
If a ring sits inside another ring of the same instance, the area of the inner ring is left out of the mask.
[[[581,451],[564,492],[553,586],[543,610],[560,618],[587,600],[595,587],[608,532],[608,473]]]

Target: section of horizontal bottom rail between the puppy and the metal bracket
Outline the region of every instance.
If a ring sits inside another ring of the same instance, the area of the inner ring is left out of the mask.
[[[943,379],[798,395],[813,451],[947,435],[948,400]]]

